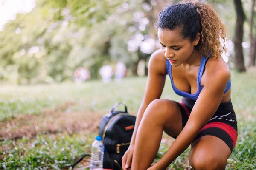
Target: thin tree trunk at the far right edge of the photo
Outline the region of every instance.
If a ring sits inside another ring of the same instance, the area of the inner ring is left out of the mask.
[[[253,20],[254,20],[254,6],[255,6],[255,0],[252,0],[252,8],[251,8],[251,18],[250,18],[250,59],[249,59],[249,67],[250,66],[255,66],[255,49],[256,49],[256,44],[255,44],[255,38],[253,37]]]

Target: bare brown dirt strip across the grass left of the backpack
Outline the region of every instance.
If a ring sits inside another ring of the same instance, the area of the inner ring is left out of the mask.
[[[2,140],[33,138],[38,133],[68,134],[96,132],[102,116],[95,112],[70,112],[73,102],[67,102],[54,110],[45,110],[40,115],[18,115],[11,120],[0,122]]]

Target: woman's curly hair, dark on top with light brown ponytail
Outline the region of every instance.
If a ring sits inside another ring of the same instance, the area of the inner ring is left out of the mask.
[[[157,25],[158,28],[169,30],[181,27],[183,38],[189,37],[191,41],[200,33],[196,48],[204,56],[210,52],[210,57],[217,59],[223,50],[227,51],[227,28],[211,5],[193,1],[167,6],[160,12]],[[220,38],[224,43],[223,50]]]

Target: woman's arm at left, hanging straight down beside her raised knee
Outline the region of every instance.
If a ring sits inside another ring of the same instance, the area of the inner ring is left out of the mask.
[[[161,50],[155,51],[148,63],[148,79],[145,88],[145,94],[143,97],[143,102],[140,105],[139,111],[137,113],[137,118],[134,126],[134,132],[131,138],[131,144],[125,155],[122,158],[122,168],[126,170],[125,167],[130,167],[131,159],[133,154],[134,143],[136,139],[136,134],[138,127],[140,125],[143,114],[148,107],[148,105],[154,100],[159,99],[165,84],[166,79],[166,57],[164,57]],[[126,165],[126,166],[125,166]]]

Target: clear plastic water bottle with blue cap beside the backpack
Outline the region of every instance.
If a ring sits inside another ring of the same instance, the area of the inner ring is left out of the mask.
[[[96,168],[102,168],[103,154],[104,154],[104,145],[102,143],[102,137],[96,136],[95,141],[92,144],[90,170],[93,170]]]

